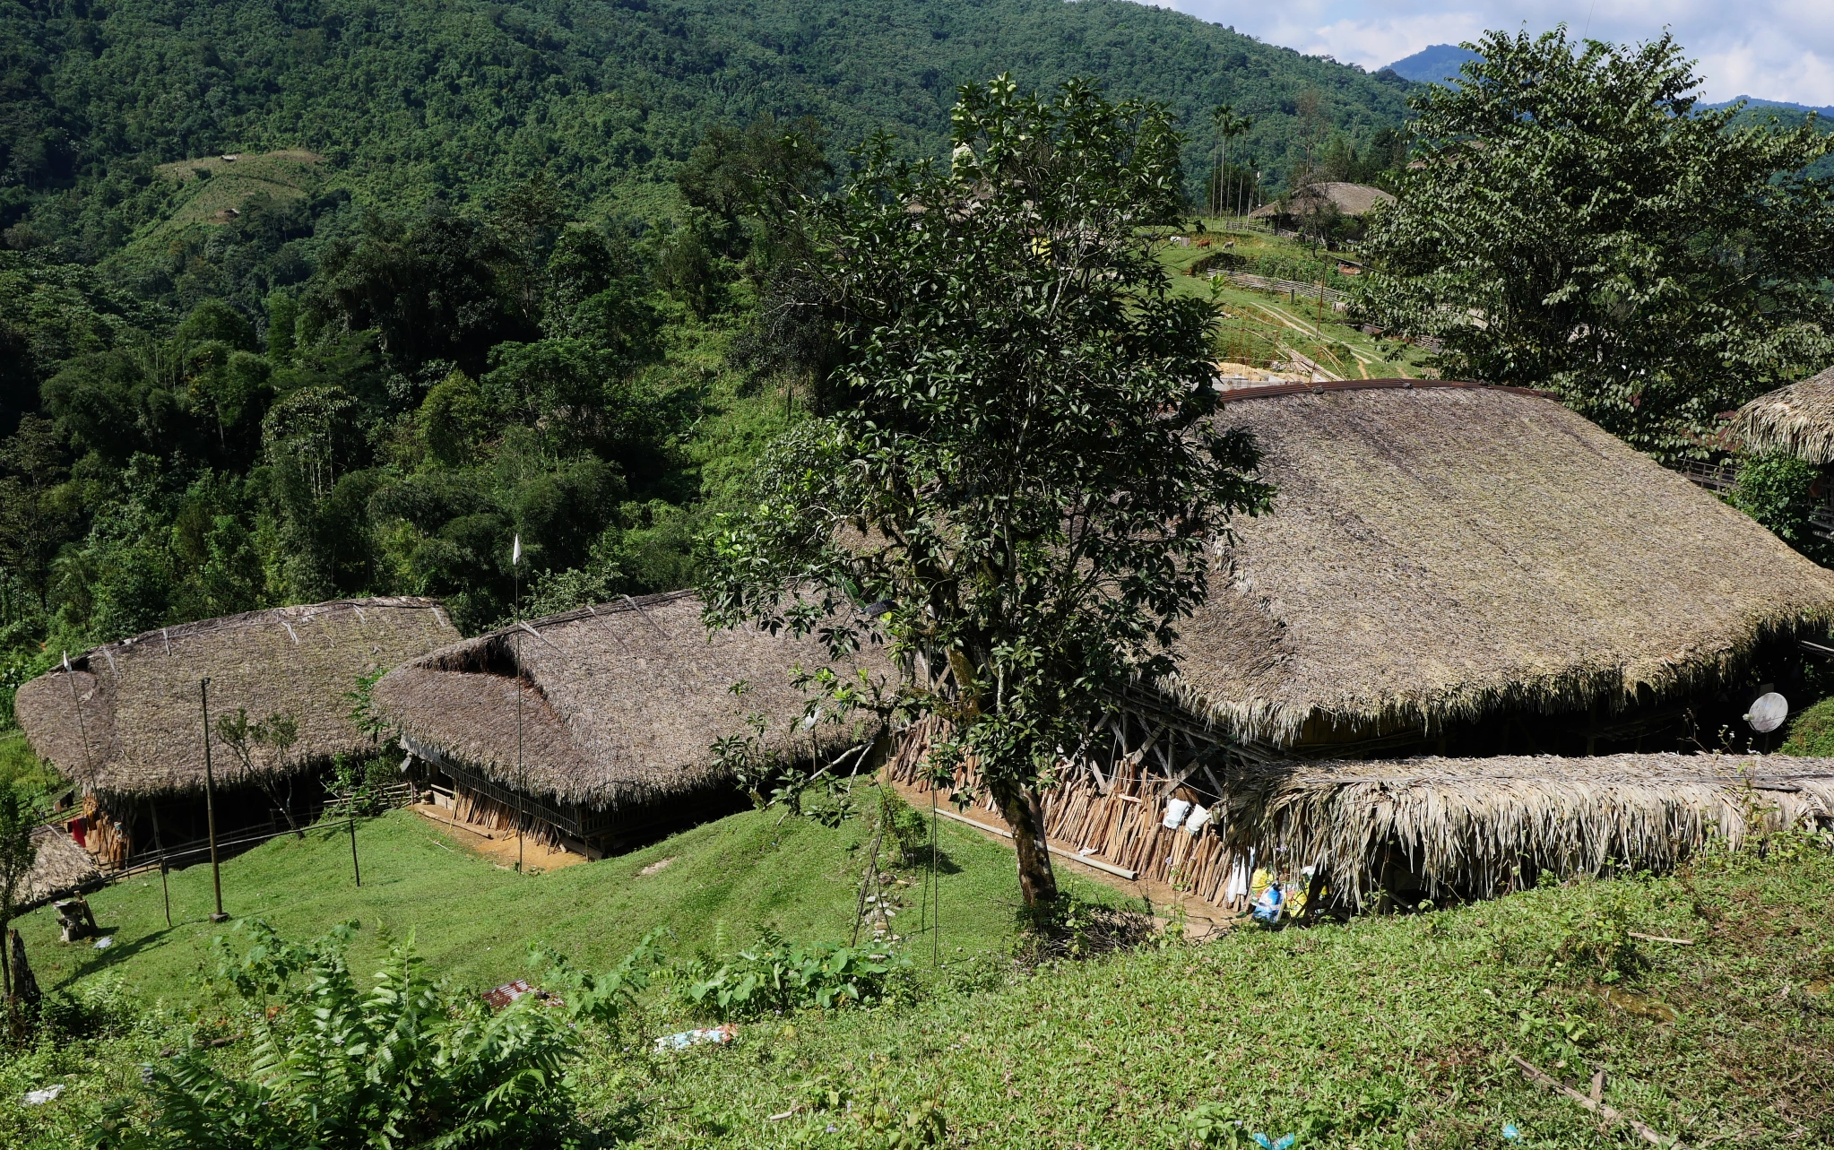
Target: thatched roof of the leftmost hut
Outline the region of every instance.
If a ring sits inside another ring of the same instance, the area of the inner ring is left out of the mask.
[[[211,717],[248,708],[249,721],[292,713],[304,767],[361,752],[350,721],[359,675],[392,668],[458,638],[433,600],[378,598],[275,607],[103,644],[18,688],[18,723],[39,756],[105,794],[204,787],[198,680],[211,680]],[[81,706],[81,713],[79,713]],[[79,721],[81,719],[81,721]],[[211,767],[235,785],[240,767],[213,741]]]

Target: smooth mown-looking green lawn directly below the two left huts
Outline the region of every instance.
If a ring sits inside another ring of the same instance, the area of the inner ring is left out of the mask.
[[[266,919],[288,939],[315,937],[354,917],[363,924],[352,948],[359,970],[381,954],[387,935],[413,930],[436,974],[477,987],[530,974],[532,941],[605,967],[655,926],[675,930],[679,954],[730,950],[763,924],[796,939],[845,939],[871,842],[866,822],[827,829],[789,818],[779,825],[779,814],[734,814],[631,855],[523,877],[455,847],[418,814],[396,811],[358,825],[361,890],[350,880],[343,831],[312,831],[304,842],[277,838],[226,862],[224,908]],[[967,952],[1003,948],[1018,897],[1011,851],[952,824],[943,824],[941,846],[945,868],[956,868],[941,880],[945,943]],[[668,868],[638,877],[669,857]],[[40,985],[50,990],[108,972],[145,1000],[191,996],[209,941],[224,930],[205,919],[209,866],[174,873],[171,891],[171,930],[158,875],[92,895],[97,921],[116,939],[103,952],[59,945],[48,908],[28,915],[20,932]],[[910,901],[919,901],[915,888]]]

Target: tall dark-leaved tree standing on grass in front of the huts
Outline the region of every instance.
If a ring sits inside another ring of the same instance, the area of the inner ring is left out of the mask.
[[[1212,420],[1214,312],[1143,229],[1183,207],[1161,105],[1088,83],[967,86],[945,165],[860,156],[811,205],[807,323],[845,348],[834,407],[778,440],[708,539],[708,622],[888,642],[897,706],[939,715],[1056,897],[1040,794],[1115,693],[1168,671],[1253,440]],[[864,607],[864,611],[860,611]]]

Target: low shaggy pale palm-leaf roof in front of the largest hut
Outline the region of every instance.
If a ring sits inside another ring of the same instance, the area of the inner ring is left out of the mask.
[[[1834,759],[1619,754],[1273,763],[1232,770],[1223,835],[1322,864],[1359,904],[1401,875],[1487,897],[1541,871],[1667,869],[1713,836],[1834,818]],[[1385,873],[1387,866],[1399,873]]]

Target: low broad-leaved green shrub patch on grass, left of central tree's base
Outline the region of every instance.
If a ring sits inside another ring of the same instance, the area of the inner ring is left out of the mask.
[[[712,967],[688,968],[680,996],[713,1018],[757,1018],[772,1011],[823,1011],[886,998],[910,970],[910,957],[840,943],[787,943],[767,930],[750,950]]]

